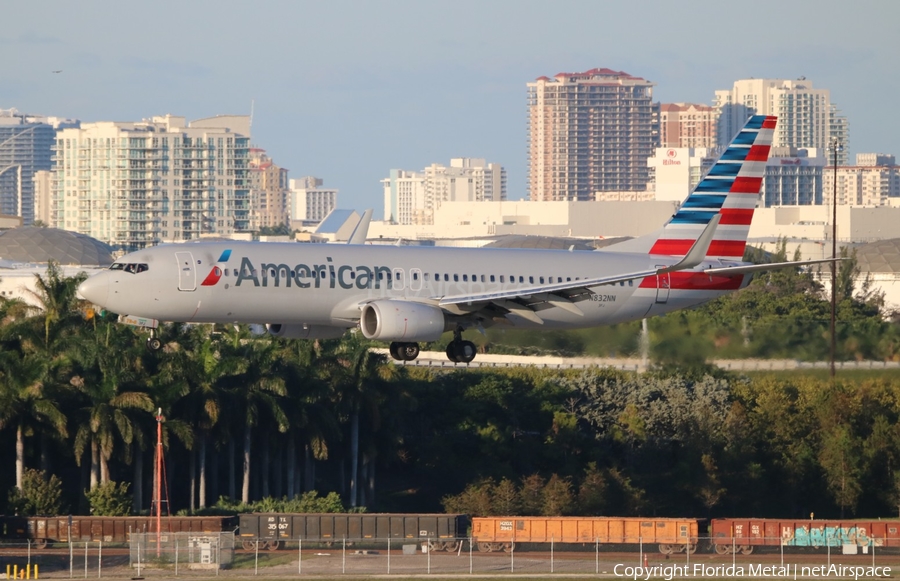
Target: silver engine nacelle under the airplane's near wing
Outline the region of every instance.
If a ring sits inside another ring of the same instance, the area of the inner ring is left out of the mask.
[[[359,318],[359,328],[366,339],[382,341],[437,341],[445,327],[446,317],[441,309],[408,301],[368,303]]]

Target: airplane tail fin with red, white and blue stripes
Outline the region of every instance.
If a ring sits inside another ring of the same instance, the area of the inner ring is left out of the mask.
[[[776,121],[774,116],[750,117],[662,230],[626,242],[631,247],[629,250],[641,248],[649,254],[684,256],[712,217],[719,214],[719,224],[706,256],[741,260],[766,173]]]

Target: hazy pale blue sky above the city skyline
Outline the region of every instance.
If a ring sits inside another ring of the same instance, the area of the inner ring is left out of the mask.
[[[135,121],[253,100],[255,144],[376,216],[388,170],[451,157],[504,165],[523,197],[525,83],[594,67],[707,104],[736,79],[806,76],[849,118],[851,154],[900,155],[894,0],[20,0],[0,19],[0,108]]]

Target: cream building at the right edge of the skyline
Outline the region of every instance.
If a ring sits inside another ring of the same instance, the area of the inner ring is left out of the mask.
[[[829,154],[829,158],[831,154]],[[879,163],[881,162],[881,163]],[[829,160],[829,163],[832,163]],[[860,153],[857,165],[824,168],[822,201],[831,205],[837,177],[838,205],[885,206],[900,198],[900,167],[892,155]],[[837,173],[837,176],[835,176]]]

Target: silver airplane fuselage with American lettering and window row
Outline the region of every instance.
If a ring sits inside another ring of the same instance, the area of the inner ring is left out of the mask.
[[[669,266],[678,257],[614,251],[462,249],[418,246],[201,242],[128,254],[81,292],[106,309],[160,321],[279,323],[349,328],[381,299],[434,303],[505,290]],[[517,327],[610,325],[701,304],[746,284],[746,275],[709,276],[699,267],[591,287],[582,314],[544,308],[541,323],[510,314]],[[465,305],[450,316],[464,317]],[[490,324],[490,322],[487,322]],[[479,323],[481,324],[481,323]]]

